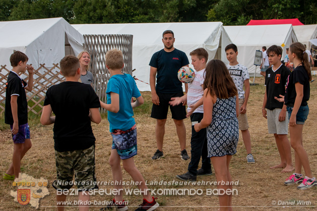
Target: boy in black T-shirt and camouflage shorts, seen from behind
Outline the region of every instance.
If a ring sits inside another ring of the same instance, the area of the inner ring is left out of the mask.
[[[41,123],[54,123],[54,149],[57,178],[53,187],[57,190],[57,210],[64,210],[67,191],[75,182],[79,191],[79,206],[89,209],[89,194],[97,189],[95,174],[95,136],[91,121],[101,121],[100,102],[90,85],[78,82],[81,76],[79,60],[73,55],[60,60],[60,72],[66,82],[48,88],[44,100]],[[55,116],[51,116],[51,112]],[[65,192],[64,192],[65,191]]]

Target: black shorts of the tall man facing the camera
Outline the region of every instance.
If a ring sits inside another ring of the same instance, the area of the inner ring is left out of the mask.
[[[186,108],[182,104],[179,104],[177,106],[169,105],[169,101],[172,97],[181,97],[184,95],[183,92],[178,93],[157,93],[160,104],[152,106],[152,113],[151,117],[155,119],[166,119],[167,118],[167,112],[168,112],[168,106],[172,113],[172,119],[181,120],[186,118]]]

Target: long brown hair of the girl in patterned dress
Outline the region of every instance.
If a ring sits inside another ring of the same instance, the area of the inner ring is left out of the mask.
[[[238,94],[237,88],[229,74],[226,65],[218,59],[212,59],[207,63],[204,89],[211,96],[226,99]]]

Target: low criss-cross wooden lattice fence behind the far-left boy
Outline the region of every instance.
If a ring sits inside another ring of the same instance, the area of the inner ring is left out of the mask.
[[[7,65],[1,65],[0,68],[0,113],[3,113],[5,111],[6,83],[10,72],[6,68],[6,66]],[[26,96],[27,101],[32,101],[34,104],[29,103],[28,112],[32,111],[33,113],[39,115],[43,109],[41,102],[44,101],[47,89],[50,86],[65,81],[64,76],[59,73],[59,70],[60,68],[58,66],[58,63],[53,64],[53,66],[50,68],[45,67],[45,64],[40,64],[38,69],[34,70],[33,90],[31,92],[27,91]],[[20,77],[26,82],[28,82],[29,80],[28,72],[21,74]]]

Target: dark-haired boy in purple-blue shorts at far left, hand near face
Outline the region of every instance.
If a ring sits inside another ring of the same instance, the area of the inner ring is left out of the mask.
[[[12,163],[3,177],[6,180],[19,177],[21,160],[32,147],[25,90],[32,91],[33,66],[27,64],[28,60],[27,55],[20,51],[15,51],[10,56],[12,71],[9,73],[7,82],[5,122],[10,124],[14,149]],[[19,76],[26,70],[29,73],[28,83]]]

